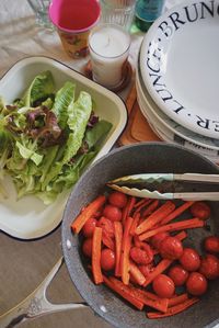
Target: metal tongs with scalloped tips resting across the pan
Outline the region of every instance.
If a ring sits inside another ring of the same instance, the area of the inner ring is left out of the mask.
[[[219,174],[143,173],[122,177],[108,181],[107,185],[114,190],[138,197],[219,201]],[[184,192],[185,185],[189,191]],[[168,191],[170,186],[172,190]],[[207,186],[207,191],[204,191],[205,186]]]

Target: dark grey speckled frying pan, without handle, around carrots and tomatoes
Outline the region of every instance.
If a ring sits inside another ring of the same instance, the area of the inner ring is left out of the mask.
[[[126,174],[140,172],[197,172],[219,173],[216,165],[185,148],[161,143],[146,143],[118,148],[90,167],[73,188],[62,222],[62,249],[69,274],[77,290],[102,318],[116,327],[193,327],[200,328],[219,323],[219,282],[211,281],[208,293],[189,309],[173,317],[149,320],[145,312],[129,306],[104,285],[94,285],[80,251],[80,240],[70,225],[80,210],[102,193],[105,182]],[[209,234],[219,235],[219,202],[210,203],[212,217],[210,231],[189,231],[187,245],[198,249],[200,239]],[[200,249],[199,249],[200,251]]]

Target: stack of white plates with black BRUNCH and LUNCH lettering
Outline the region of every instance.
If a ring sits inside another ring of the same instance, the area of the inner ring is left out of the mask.
[[[160,138],[219,163],[218,8],[187,0],[159,18],[141,44],[136,88]]]

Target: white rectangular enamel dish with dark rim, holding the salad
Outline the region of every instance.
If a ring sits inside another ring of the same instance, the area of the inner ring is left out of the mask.
[[[0,80],[0,95],[7,103],[13,102],[21,97],[35,76],[44,70],[51,71],[57,90],[66,81],[72,81],[77,84],[77,93],[84,90],[91,94],[95,102],[95,113],[113,125],[94,161],[107,154],[127,123],[127,110],[123,100],[59,61],[48,57],[30,57],[18,61]],[[32,195],[18,201],[10,178],[5,178],[3,184],[9,197],[0,199],[1,230],[16,238],[33,239],[47,235],[61,222],[69,192],[60,194],[51,205],[45,205]]]

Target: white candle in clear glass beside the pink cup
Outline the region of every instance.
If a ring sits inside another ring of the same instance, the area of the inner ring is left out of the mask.
[[[130,36],[123,27],[114,24],[96,26],[89,37],[93,80],[107,88],[119,86],[129,46]]]

